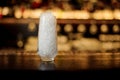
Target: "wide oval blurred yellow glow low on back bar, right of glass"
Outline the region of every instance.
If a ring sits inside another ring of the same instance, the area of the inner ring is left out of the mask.
[[[96,51],[101,50],[101,43],[95,38],[81,38],[80,40],[73,40],[72,45],[74,48],[77,48],[81,51]],[[92,47],[91,47],[92,45]]]

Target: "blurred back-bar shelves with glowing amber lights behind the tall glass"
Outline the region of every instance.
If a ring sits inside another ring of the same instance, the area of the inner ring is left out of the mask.
[[[58,51],[120,52],[120,0],[1,0],[0,49],[37,51],[46,10],[57,18]]]

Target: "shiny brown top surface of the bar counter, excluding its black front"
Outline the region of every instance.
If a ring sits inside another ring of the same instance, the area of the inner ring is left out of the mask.
[[[39,71],[109,70],[120,68],[120,52],[59,52],[53,62],[42,62],[35,51],[0,50],[0,69]]]

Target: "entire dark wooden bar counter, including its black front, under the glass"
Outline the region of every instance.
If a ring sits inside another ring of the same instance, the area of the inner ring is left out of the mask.
[[[42,62],[36,51],[0,50],[1,76],[50,80],[104,80],[104,77],[108,79],[114,75],[113,78],[118,79],[119,72],[120,52],[58,52],[55,61]]]

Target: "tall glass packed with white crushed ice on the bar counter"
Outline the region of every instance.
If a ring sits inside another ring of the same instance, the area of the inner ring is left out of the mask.
[[[53,61],[57,55],[56,18],[48,11],[42,13],[40,16],[38,54],[42,61]]]

